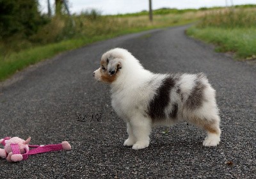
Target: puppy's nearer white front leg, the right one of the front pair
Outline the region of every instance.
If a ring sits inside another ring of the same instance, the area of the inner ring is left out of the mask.
[[[151,121],[147,118],[132,118],[131,120],[132,133],[136,138],[136,143],[133,144],[132,149],[138,150],[146,148],[150,142]]]

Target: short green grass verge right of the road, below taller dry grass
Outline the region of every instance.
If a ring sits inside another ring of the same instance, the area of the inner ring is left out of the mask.
[[[256,55],[256,29],[234,28],[223,29],[219,27],[190,27],[187,30],[193,36],[208,43],[218,45],[218,52],[236,52],[237,58],[252,59]]]

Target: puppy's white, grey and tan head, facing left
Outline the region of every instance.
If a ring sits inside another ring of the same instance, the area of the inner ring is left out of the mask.
[[[93,72],[97,81],[112,83],[122,72],[124,49],[113,49],[102,55],[100,68]]]

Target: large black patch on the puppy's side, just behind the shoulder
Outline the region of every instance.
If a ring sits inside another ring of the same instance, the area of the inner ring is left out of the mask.
[[[159,88],[157,88],[156,95],[152,100],[150,100],[148,106],[148,115],[152,120],[163,119],[165,118],[164,108],[170,102],[170,91],[175,86],[175,82],[178,80],[178,77],[172,77],[169,75],[166,79],[163,80],[163,83]],[[174,108],[175,109],[175,108]],[[175,109],[176,110],[176,109]],[[176,115],[175,110],[172,116]]]

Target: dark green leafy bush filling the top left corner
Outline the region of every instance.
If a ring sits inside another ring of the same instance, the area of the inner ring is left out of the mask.
[[[30,36],[48,22],[40,14],[36,0],[0,0],[1,55],[31,47]]]

